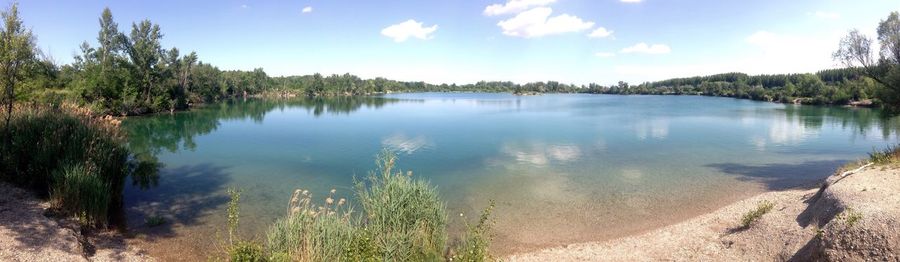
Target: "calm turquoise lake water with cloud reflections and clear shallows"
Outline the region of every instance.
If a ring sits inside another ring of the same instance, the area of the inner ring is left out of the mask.
[[[242,100],[128,118],[130,146],[163,164],[128,188],[132,228],[203,250],[243,189],[259,234],[295,188],[351,198],[382,148],[437,185],[454,226],[497,201],[500,253],[618,237],[768,190],[814,185],[898,141],[876,110],[695,96],[423,93]],[[171,223],[144,228],[149,215]],[[160,242],[161,243],[161,242]],[[171,245],[171,244],[170,244]]]

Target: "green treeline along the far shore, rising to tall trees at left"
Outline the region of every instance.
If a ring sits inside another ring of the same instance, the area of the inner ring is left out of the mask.
[[[726,73],[675,78],[629,85],[573,85],[555,81],[516,84],[480,81],[474,84],[429,84],[385,78],[362,79],[351,74],[270,77],[262,68],[226,71],[200,61],[196,53],[182,55],[163,48],[163,34],[149,20],[120,32],[109,9],[99,19],[98,46],[87,42],[71,64],[38,58],[26,67],[16,97],[58,103],[77,102],[101,114],[137,115],[174,111],[235,96],[350,96],[390,92],[511,92],[706,95],[804,104],[878,104],[876,81],[863,68],[831,69],[815,74],[755,75]],[[36,50],[40,54],[40,50]],[[852,65],[850,65],[852,66]]]

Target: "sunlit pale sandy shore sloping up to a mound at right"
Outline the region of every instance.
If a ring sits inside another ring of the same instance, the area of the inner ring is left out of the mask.
[[[823,189],[769,192],[641,235],[520,253],[509,261],[897,261],[900,168],[874,167]],[[775,204],[749,228],[741,217]]]

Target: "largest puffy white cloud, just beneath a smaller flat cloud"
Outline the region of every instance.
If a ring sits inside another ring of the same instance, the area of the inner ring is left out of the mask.
[[[497,25],[503,29],[504,35],[525,38],[579,32],[594,26],[594,22],[568,14],[550,17],[551,13],[553,9],[549,7],[537,7],[500,21]]]

